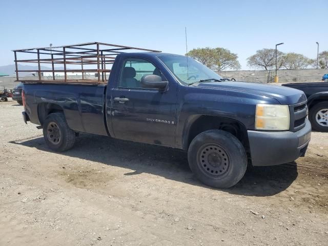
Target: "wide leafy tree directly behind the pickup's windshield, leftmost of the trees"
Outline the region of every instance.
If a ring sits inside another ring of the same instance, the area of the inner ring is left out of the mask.
[[[240,69],[238,55],[228,49],[197,48],[189,51],[186,55],[219,72],[226,69]]]

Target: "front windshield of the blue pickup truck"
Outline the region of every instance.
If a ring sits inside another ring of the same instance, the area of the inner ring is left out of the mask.
[[[191,57],[163,55],[158,58],[163,61],[182,84],[190,85],[203,79],[222,79],[217,73]]]

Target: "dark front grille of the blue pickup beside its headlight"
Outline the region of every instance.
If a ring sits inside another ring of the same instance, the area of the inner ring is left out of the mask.
[[[290,130],[296,132],[305,126],[305,119],[308,116],[306,101],[299,104],[290,105],[291,125]]]

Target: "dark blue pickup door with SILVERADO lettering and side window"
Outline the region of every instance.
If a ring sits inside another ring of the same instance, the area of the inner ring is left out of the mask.
[[[112,129],[116,138],[174,147],[176,84],[165,90],[145,88],[141,77],[155,74],[166,78],[153,63],[126,58],[111,90]]]

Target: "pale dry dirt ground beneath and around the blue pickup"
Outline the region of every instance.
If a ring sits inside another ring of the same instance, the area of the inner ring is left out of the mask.
[[[0,103],[0,245],[328,245],[328,133],[218,190],[169,148],[84,134],[54,153],[22,111]]]

